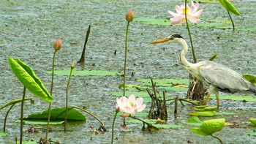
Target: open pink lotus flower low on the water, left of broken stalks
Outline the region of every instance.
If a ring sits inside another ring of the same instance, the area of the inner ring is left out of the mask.
[[[136,100],[134,94],[131,94],[128,99],[125,96],[121,96],[120,99],[116,98],[116,110],[124,113],[121,115],[122,117],[141,112],[145,108],[146,105],[143,104],[143,98],[140,97]]]

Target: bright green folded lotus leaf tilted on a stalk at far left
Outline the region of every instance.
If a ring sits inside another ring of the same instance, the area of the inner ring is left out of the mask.
[[[20,61],[20,59],[8,58],[9,64],[12,67],[12,72],[18,80],[35,96],[45,102],[51,102],[53,97],[50,96],[48,90],[42,84],[42,81],[34,73],[33,69]]]

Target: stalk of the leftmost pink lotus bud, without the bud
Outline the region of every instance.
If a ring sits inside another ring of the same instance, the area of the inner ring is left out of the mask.
[[[56,56],[57,50],[54,51],[53,53],[53,66],[52,66],[52,73],[51,73],[51,85],[50,85],[50,95],[52,96],[53,94],[53,75],[54,75],[54,61],[55,61],[55,56]],[[46,127],[46,135],[45,139],[48,141],[48,132],[49,132],[49,124],[50,124],[50,110],[51,110],[51,102],[49,103],[49,115],[48,115],[48,121],[47,121],[47,127]]]

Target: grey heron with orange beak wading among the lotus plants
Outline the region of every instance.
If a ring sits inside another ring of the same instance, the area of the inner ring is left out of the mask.
[[[180,61],[184,69],[191,75],[200,80],[202,83],[208,86],[208,95],[206,96],[205,105],[207,105],[208,98],[212,92],[214,92],[217,98],[217,106],[219,107],[219,91],[231,92],[231,93],[252,93],[256,94],[256,86],[250,83],[238,72],[217,64],[214,61],[200,61],[196,64],[192,64],[185,58],[188,51],[187,42],[179,34],[173,34],[165,39],[158,39],[151,44],[157,44],[162,42],[176,42],[181,45]]]

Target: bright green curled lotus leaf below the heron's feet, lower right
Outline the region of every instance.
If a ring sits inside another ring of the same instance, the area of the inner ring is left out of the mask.
[[[199,128],[192,128],[190,130],[196,134],[206,136],[221,131],[224,127],[224,124],[225,118],[211,119],[208,121],[203,121],[203,124]]]

